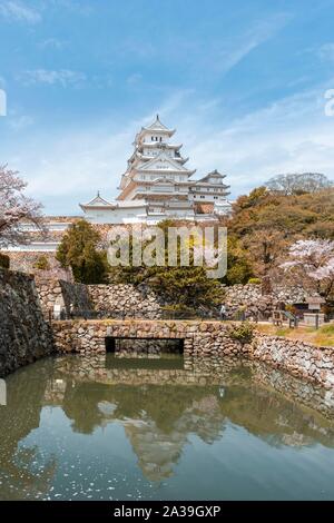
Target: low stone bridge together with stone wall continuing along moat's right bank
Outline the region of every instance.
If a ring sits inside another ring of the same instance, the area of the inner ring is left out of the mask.
[[[246,356],[287,371],[297,377],[334,388],[333,347],[318,347],[298,339],[254,333],[252,343],[235,338],[235,324],[200,320],[99,319],[53,322],[53,341],[58,353],[84,355],[102,354],[115,348],[116,341],[125,343],[125,352],[157,354],[161,342],[175,341],[185,357]],[[147,343],[143,344],[143,341]],[[138,344],[141,342],[141,345]]]

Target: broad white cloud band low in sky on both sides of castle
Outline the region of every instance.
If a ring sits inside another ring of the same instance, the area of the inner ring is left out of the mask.
[[[316,171],[334,179],[334,118],[324,116],[322,92],[289,97],[222,124],[218,100],[200,102],[191,90],[180,91],[135,120],[110,115],[84,130],[78,126],[58,137],[30,136],[16,142],[6,161],[27,177],[35,198],[48,201],[47,211],[78,214],[79,201],[97,189],[107,199],[116,197],[135,134],[159,112],[166,125],[177,128],[174,139],[184,142],[183,154],[190,157],[196,176],[219,169],[233,197],[277,172]]]

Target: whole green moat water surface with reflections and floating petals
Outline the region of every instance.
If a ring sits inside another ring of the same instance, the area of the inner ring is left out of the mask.
[[[334,499],[334,391],[263,364],[61,356],[6,383],[0,500]]]

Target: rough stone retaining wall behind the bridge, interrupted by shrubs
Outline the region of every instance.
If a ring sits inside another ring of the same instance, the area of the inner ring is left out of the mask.
[[[143,317],[159,319],[163,308],[168,305],[164,297],[158,296],[146,285],[135,287],[130,284],[81,285],[63,279],[47,279],[37,277],[38,290],[42,308],[52,309],[60,304],[69,309],[72,303],[75,308],[89,310],[94,308],[101,315],[112,312],[124,317]],[[263,295],[261,285],[234,285],[224,287],[224,303],[227,307],[227,317],[235,319],[237,312],[245,309],[248,318],[268,318],[277,302],[286,304],[299,303],[305,299],[305,292],[299,288],[277,287],[273,294]],[[216,316],[219,307],[207,310],[207,316]],[[215,314],[216,313],[216,314]]]

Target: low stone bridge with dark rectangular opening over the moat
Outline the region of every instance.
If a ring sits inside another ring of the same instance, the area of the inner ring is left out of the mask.
[[[230,325],[223,322],[100,319],[53,322],[59,352],[99,354],[112,347],[114,341],[125,341],[126,349],[136,351],[139,341],[175,341],[185,356],[240,355],[250,349],[230,336]],[[177,345],[177,344],[176,344]],[[141,352],[140,349],[138,352]],[[143,349],[145,352],[145,349]]]

